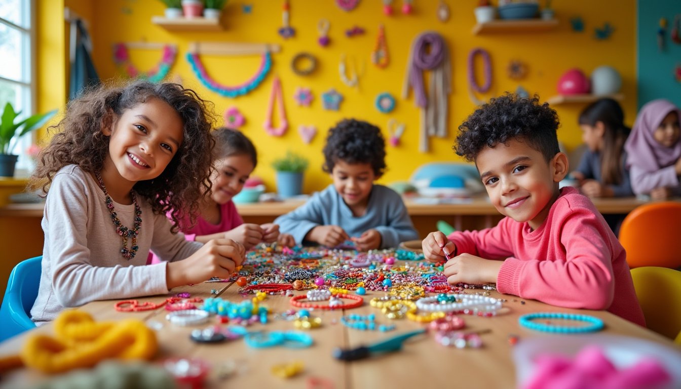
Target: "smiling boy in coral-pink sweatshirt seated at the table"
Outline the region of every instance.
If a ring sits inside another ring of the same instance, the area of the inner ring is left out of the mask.
[[[500,293],[560,307],[607,309],[645,325],[627,253],[590,200],[558,189],[568,171],[558,116],[539,97],[504,95],[460,125],[456,153],[475,161],[494,207],[506,217],[481,231],[431,232],[426,259],[445,253],[447,282],[496,283]]]

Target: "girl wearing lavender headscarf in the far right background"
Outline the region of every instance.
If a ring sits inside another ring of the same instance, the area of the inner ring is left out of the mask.
[[[665,99],[644,105],[624,144],[631,186],[653,200],[681,196],[680,110]]]

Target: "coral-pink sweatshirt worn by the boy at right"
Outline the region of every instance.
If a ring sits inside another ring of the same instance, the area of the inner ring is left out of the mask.
[[[532,231],[510,217],[481,231],[453,232],[457,253],[503,259],[496,289],[559,307],[607,309],[645,326],[627,253],[603,216],[573,187],[561,189]]]

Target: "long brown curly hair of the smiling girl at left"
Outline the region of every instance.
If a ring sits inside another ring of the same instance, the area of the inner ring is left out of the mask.
[[[42,187],[47,193],[54,174],[71,164],[86,172],[101,170],[109,153],[109,137],[101,130],[115,125],[125,110],[152,98],[163,100],[178,113],[183,121],[183,142],[157,178],[138,181],[134,189],[155,213],[170,212],[176,231],[182,215],[197,214],[198,200],[210,190],[210,151],[215,143],[210,136],[215,122],[212,108],[179,84],[136,81],[124,87],[96,87],[69,102],[64,118],[49,128],[56,133],[38,156],[31,187]]]

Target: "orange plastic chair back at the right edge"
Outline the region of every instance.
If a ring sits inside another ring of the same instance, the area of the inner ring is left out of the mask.
[[[619,238],[630,268],[681,267],[681,202],[637,206],[622,221]]]

